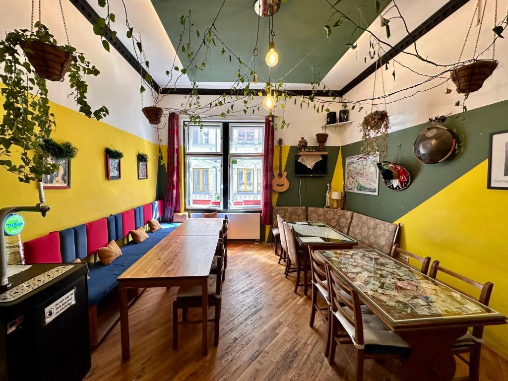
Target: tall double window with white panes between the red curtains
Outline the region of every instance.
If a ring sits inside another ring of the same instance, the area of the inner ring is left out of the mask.
[[[184,123],[185,207],[261,208],[263,134],[263,122]]]

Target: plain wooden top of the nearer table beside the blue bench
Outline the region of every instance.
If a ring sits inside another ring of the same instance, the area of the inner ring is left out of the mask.
[[[164,237],[118,280],[208,277],[217,241],[218,234]]]

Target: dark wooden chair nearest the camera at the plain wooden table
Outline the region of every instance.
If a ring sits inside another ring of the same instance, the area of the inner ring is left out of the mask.
[[[217,274],[223,270],[222,257],[217,257]],[[211,274],[208,276],[208,306],[215,306],[214,319],[209,319],[208,322],[213,322],[215,325],[213,345],[219,344],[219,321],[220,321],[220,308],[222,297],[222,282],[220,276]],[[203,307],[201,298],[201,286],[184,286],[178,289],[176,299],[173,301],[173,350],[178,349],[178,326],[181,324],[195,324],[203,323],[202,320],[187,320],[187,313],[189,308]],[[182,321],[178,321],[178,310],[182,310]]]

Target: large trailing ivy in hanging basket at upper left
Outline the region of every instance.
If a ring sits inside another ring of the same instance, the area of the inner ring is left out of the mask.
[[[46,79],[61,81],[67,75],[79,112],[98,120],[108,115],[105,106],[92,110],[86,99],[88,85],[83,75],[97,76],[99,70],[70,44],[59,45],[40,21],[34,26],[33,31],[15,29],[0,41],[0,92],[5,97],[0,165],[18,175],[21,182],[39,181],[54,171],[43,148],[56,127]],[[13,160],[13,156],[19,158]]]

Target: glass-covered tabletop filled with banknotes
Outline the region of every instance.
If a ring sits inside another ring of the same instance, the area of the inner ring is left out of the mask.
[[[374,249],[316,252],[395,332],[506,321],[492,308]]]

